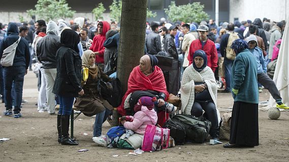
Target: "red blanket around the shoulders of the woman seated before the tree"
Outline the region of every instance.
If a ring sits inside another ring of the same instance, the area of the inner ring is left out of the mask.
[[[166,94],[165,101],[167,101],[169,97],[169,93],[167,91],[165,77],[164,77],[162,69],[160,69],[158,66],[155,66],[153,73],[151,73],[148,76],[146,76],[145,74],[141,72],[139,66],[136,66],[133,69],[133,71],[130,74],[129,82],[127,83],[127,91],[122,97],[121,105],[117,107],[118,113],[121,115],[126,115],[123,105],[124,105],[124,100],[130,93],[135,92],[135,91],[146,91],[146,90],[152,90],[156,92],[165,93]],[[162,116],[161,118],[163,117],[165,116]],[[163,119],[158,118],[158,121],[160,120],[163,120]],[[158,123],[163,124],[162,121]]]

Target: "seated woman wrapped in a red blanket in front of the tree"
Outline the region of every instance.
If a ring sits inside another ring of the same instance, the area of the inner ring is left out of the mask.
[[[160,107],[167,101],[169,93],[163,71],[156,66],[157,63],[158,60],[153,55],[141,57],[140,65],[136,66],[130,74],[127,91],[122,98],[121,105],[117,107],[117,111],[121,115],[126,115],[126,108],[134,107],[138,98],[142,96],[156,96],[158,104],[154,106],[154,110],[157,112],[157,124],[162,127],[168,119],[169,113]]]

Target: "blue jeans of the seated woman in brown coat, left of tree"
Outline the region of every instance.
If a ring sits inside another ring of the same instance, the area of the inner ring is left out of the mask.
[[[99,137],[102,135],[102,125],[110,113],[111,113],[111,110],[105,108],[105,110],[103,112],[98,113],[95,116],[94,128],[93,128],[93,137]]]

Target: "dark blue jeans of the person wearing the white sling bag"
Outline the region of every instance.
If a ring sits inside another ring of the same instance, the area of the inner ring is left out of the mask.
[[[4,97],[6,110],[12,109],[12,84],[14,85],[14,114],[21,111],[25,66],[3,67]]]

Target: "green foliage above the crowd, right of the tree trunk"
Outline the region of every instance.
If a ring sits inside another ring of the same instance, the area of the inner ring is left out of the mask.
[[[168,15],[168,19],[182,22],[201,22],[203,20],[208,20],[209,15],[204,12],[204,5],[199,2],[176,6],[175,2],[171,2],[169,9],[165,9],[165,13]]]

